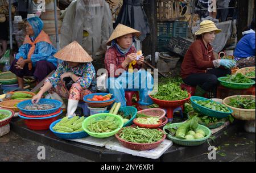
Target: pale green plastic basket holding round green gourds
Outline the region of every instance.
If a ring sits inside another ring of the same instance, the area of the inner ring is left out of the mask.
[[[181,126],[182,124],[183,123],[168,124],[163,127],[163,130],[165,133],[167,133],[166,128],[179,128],[179,126]],[[183,145],[183,146],[201,145],[201,144],[204,144],[204,142],[206,142],[208,140],[211,132],[210,132],[209,128],[207,128],[204,125],[200,125],[200,124],[197,126],[196,130],[199,130],[199,129],[203,130],[204,133],[206,134],[206,136],[204,138],[201,138],[199,140],[184,140],[184,139],[177,138],[175,136],[171,136],[171,134],[168,134],[168,133],[167,133],[167,138],[177,145]]]

